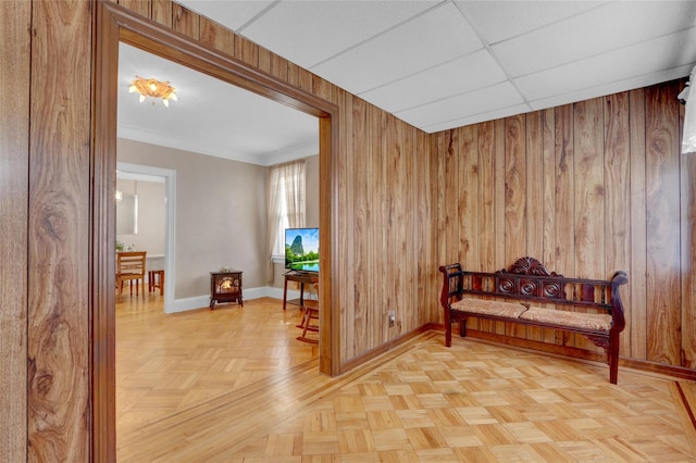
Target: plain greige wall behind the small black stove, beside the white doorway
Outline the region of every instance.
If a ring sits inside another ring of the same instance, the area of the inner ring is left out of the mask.
[[[209,295],[222,266],[265,287],[266,167],[121,138],[116,149],[120,162],[176,171],[175,299]]]

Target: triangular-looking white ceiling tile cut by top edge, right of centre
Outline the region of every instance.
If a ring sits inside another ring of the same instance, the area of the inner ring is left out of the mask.
[[[457,1],[488,43],[597,8],[605,1]]]

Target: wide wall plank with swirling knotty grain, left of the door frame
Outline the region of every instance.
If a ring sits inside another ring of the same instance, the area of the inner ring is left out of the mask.
[[[27,460],[88,461],[94,5],[32,7]]]

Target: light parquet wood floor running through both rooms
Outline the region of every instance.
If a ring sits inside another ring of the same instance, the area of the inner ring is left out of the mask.
[[[689,381],[438,331],[331,378],[279,301],[116,312],[119,461],[696,461]]]

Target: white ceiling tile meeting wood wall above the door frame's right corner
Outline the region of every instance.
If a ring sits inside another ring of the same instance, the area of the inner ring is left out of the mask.
[[[360,93],[481,48],[459,10],[448,2],[310,71]]]

